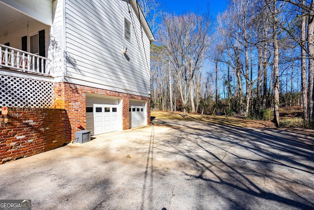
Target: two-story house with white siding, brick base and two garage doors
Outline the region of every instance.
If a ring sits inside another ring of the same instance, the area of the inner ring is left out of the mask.
[[[0,107],[66,110],[72,138],[150,123],[150,43],[136,0],[0,0]]]

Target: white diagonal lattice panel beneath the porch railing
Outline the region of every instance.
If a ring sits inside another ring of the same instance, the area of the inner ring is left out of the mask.
[[[53,83],[0,75],[0,107],[53,108]]]

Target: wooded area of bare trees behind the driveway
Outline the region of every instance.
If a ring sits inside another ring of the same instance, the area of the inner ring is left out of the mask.
[[[313,0],[231,0],[216,19],[209,9],[160,14],[152,109],[251,119],[273,113],[279,126],[281,107],[300,106],[303,126],[313,128]]]

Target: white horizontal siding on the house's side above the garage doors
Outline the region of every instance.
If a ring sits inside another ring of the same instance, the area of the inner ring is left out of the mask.
[[[65,81],[149,96],[150,43],[143,31],[145,51],[141,49],[140,54],[138,48],[143,48],[141,28],[133,10],[139,44],[133,35],[132,23],[132,42],[124,38],[124,18],[131,20],[127,2],[66,0],[65,11]],[[129,59],[123,55],[123,47],[128,47]]]

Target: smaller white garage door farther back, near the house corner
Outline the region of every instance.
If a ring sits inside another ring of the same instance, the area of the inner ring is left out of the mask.
[[[146,125],[146,101],[130,100],[130,127]]]

